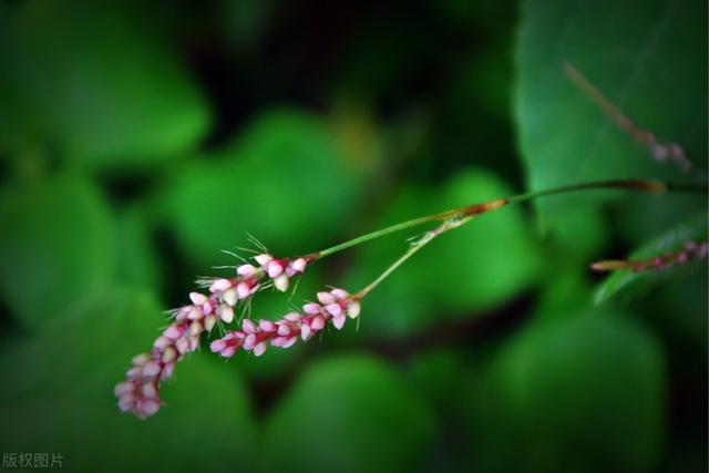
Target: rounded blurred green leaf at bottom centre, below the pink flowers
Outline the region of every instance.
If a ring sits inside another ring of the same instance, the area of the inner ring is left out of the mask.
[[[366,356],[320,360],[268,420],[269,472],[407,472],[433,440],[427,405],[389,366]]]

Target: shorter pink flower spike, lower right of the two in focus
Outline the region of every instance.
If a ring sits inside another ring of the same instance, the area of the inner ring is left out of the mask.
[[[350,296],[343,289],[318,292],[318,300],[320,304],[304,305],[302,313],[294,311],[275,322],[259,320],[256,323],[244,319],[242,330],[230,331],[213,341],[210,349],[225,358],[234,356],[239,348],[253,351],[255,356],[260,357],[269,343],[271,347],[288,348],[298,341],[298,338],[308,340],[322,330],[328,322],[340,330],[347,317],[354,319],[359,316],[358,298]]]

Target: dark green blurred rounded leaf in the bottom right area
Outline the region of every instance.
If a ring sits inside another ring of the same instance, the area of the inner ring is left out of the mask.
[[[533,323],[476,395],[475,470],[648,471],[661,451],[662,357],[620,313]]]

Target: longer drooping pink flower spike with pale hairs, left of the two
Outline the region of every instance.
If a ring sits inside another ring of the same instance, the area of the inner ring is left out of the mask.
[[[218,320],[234,321],[239,301],[251,297],[270,280],[280,291],[288,289],[290,278],[302,274],[309,258],[274,258],[268,254],[254,257],[258,266],[245,264],[236,269],[234,278],[209,279],[209,295],[191,292],[192,304],[173,311],[174,322],[155,340],[147,353],[133,358],[125,381],[116,384],[114,393],[119,408],[133,412],[140,419],[153,415],[161,407],[160,384],[169,379],[175,363],[199,346],[205,331],[212,331]]]

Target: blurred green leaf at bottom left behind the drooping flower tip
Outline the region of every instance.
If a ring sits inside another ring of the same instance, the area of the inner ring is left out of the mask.
[[[3,449],[59,452],[63,467],[82,472],[253,471],[244,387],[201,353],[179,363],[155,417],[117,410],[113,387],[164,320],[152,297],[117,289],[3,347]]]

